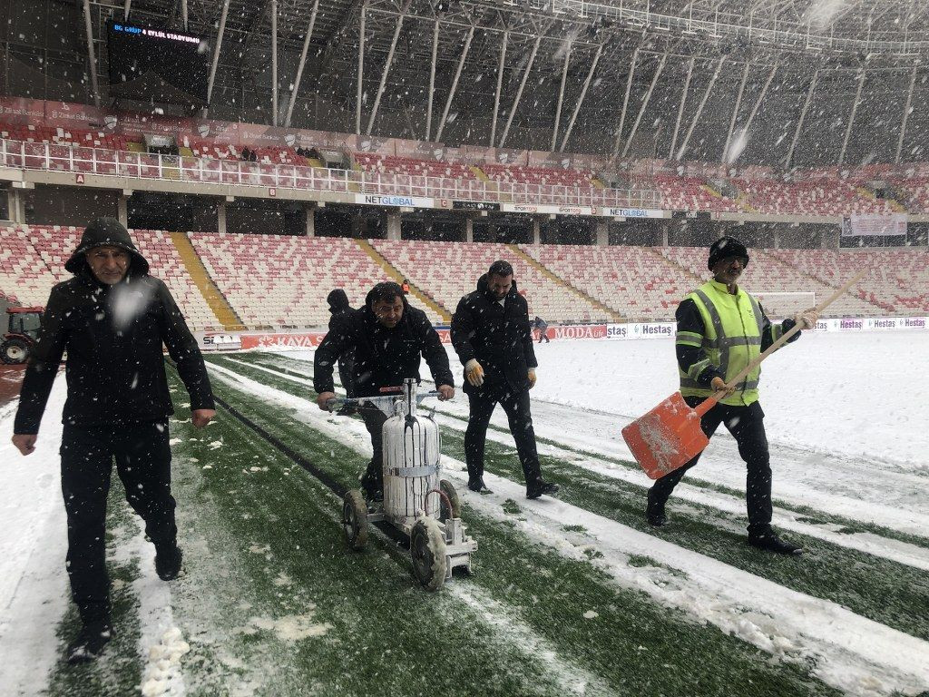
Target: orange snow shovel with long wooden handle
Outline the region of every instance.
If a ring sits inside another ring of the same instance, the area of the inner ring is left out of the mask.
[[[829,307],[832,302],[844,294],[852,285],[861,280],[867,270],[860,271],[851,281],[845,283],[835,293],[816,307],[817,314]],[[800,331],[796,324],[789,332],[769,346],[758,358],[729,381],[726,387],[738,385],[746,375],[768,356],[782,347],[792,335]],[[640,416],[629,426],[622,429],[622,438],[635,456],[635,460],[645,470],[649,479],[657,480],[683,467],[690,460],[703,452],[710,444],[710,439],[700,428],[700,417],[709,412],[713,405],[722,399],[726,390],[716,392],[712,397],[701,401],[695,409],[689,407],[680,392],[661,401],[648,414]]]

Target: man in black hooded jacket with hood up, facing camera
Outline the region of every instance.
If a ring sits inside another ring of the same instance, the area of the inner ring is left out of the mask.
[[[114,457],[126,499],[145,520],[155,545],[156,572],[165,581],[180,572],[168,442],[174,408],[163,343],[190,393],[193,425],[206,426],[216,412],[196,340],[118,220],[92,221],[65,269],[74,277],[52,288],[48,298],[22,382],[13,443],[24,455],[35,450],[67,350],[61,492],[72,598],[84,624],[69,646],[68,660],[79,663],[102,651],[112,635],[104,540]]]

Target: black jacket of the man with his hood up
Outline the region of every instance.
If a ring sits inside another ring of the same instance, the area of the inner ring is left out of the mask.
[[[121,283],[98,283],[85,266],[52,288],[22,382],[16,433],[38,433],[65,350],[65,424],[119,426],[174,414],[163,342],[190,392],[190,408],[214,408],[203,356],[174,298],[164,283],[147,273],[134,277],[136,270],[134,255],[133,267]]]

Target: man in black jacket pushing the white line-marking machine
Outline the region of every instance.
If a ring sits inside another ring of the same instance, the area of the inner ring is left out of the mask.
[[[421,356],[436,381],[441,393],[439,399],[454,397],[449,356],[425,312],[410,306],[397,283],[375,285],[365,298],[364,307],[339,316],[316,349],[313,388],[323,411],[335,397],[333,364],[347,349],[355,351],[356,397],[382,396],[381,388],[402,385],[408,377],[419,380]],[[369,501],[380,501],[384,498],[382,429],[387,417],[373,407],[365,407],[360,413],[371,434],[373,449],[361,487]]]

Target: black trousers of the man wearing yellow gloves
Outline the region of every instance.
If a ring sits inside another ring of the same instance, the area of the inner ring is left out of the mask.
[[[535,429],[532,427],[529,390],[514,393],[508,386],[491,387],[485,383],[481,388],[469,389],[467,396],[470,415],[464,431],[464,459],[467,462],[468,478],[473,481],[484,476],[487,427],[491,423],[493,409],[500,402],[509,420],[513,440],[517,443],[519,463],[526,483],[541,480],[542,470],[535,445]]]

